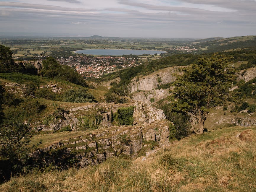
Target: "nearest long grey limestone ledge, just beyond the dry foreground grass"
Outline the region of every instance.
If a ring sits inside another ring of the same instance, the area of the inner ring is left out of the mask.
[[[170,122],[166,119],[134,126],[112,126],[91,130],[80,137],[59,141],[30,156],[41,165],[68,166],[70,162],[78,167],[95,165],[109,157],[120,154],[134,157],[146,146],[161,147],[168,144]],[[152,145],[154,144],[154,145]]]

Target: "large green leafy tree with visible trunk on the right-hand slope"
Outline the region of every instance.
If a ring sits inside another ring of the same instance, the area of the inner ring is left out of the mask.
[[[220,105],[228,96],[234,70],[226,57],[214,54],[210,59],[199,59],[184,69],[174,82],[175,109],[186,113],[195,133],[202,134],[204,123],[213,106]]]

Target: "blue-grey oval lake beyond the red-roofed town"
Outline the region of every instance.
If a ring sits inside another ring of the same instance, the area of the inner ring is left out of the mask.
[[[167,53],[166,51],[154,50],[137,50],[137,49],[83,49],[74,51],[75,53],[83,53],[85,55],[109,55],[109,56],[122,56],[122,55],[154,55],[155,53]]]

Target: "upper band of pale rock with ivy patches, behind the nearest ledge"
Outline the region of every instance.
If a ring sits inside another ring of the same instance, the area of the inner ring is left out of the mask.
[[[62,118],[55,118],[54,114],[45,117],[50,119],[46,124],[45,121],[38,121],[32,123],[31,126],[38,131],[53,131],[59,130],[62,127],[69,126],[73,130],[79,129],[83,125],[83,117],[92,115],[97,112],[100,116],[100,128],[106,128],[113,126],[113,115],[117,112],[118,108],[134,106],[133,111],[133,124],[152,123],[156,120],[165,119],[163,110],[153,107],[146,102],[131,102],[125,104],[115,103],[95,103],[87,106],[72,108],[69,111],[65,111]]]

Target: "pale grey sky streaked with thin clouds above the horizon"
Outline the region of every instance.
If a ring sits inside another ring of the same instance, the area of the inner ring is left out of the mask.
[[[0,0],[1,35],[256,35],[256,0]]]

